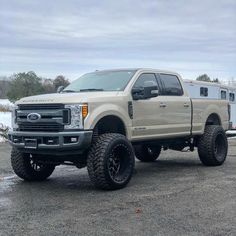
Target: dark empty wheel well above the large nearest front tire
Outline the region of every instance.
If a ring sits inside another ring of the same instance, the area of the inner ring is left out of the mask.
[[[95,126],[98,135],[104,133],[119,133],[126,135],[124,122],[117,116],[105,116]]]

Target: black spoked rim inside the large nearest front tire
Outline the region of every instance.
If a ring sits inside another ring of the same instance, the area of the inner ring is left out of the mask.
[[[124,144],[118,144],[112,149],[108,158],[108,172],[115,183],[123,183],[129,177],[132,171],[130,155],[131,151]]]

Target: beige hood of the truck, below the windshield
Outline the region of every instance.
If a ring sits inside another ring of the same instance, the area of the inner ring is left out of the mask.
[[[109,98],[114,98],[119,92],[80,92],[80,93],[53,93],[53,94],[43,94],[37,96],[30,96],[21,98],[16,102],[16,104],[50,104],[50,103],[60,103],[60,104],[73,104],[73,103],[86,103],[90,101],[108,100]]]

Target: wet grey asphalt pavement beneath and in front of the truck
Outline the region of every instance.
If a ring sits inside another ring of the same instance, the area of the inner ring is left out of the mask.
[[[137,161],[118,191],[95,189],[73,166],[24,182],[0,144],[0,235],[236,235],[236,140],[219,167],[203,166],[196,151]]]

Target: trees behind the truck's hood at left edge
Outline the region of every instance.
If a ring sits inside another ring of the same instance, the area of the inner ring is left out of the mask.
[[[14,102],[22,97],[55,93],[59,86],[66,87],[69,84],[69,80],[63,75],[48,79],[37,76],[34,71],[17,73],[0,80],[0,98],[8,98]]]

